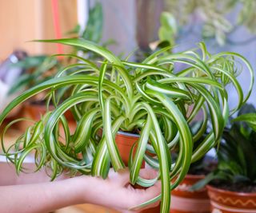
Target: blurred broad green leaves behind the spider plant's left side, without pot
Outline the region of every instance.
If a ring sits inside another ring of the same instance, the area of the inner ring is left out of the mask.
[[[66,33],[69,37],[80,37],[86,40],[100,43],[102,39],[102,28],[103,28],[103,12],[101,3],[97,2],[89,11],[89,20],[86,22],[85,30],[81,31],[81,27],[75,26],[73,30]],[[114,41],[106,41],[102,45],[106,46]],[[78,53],[79,52],[79,53]],[[86,52],[86,49],[79,49],[73,47],[70,53],[79,54],[80,56],[86,57],[90,60],[96,60],[98,55]],[[61,59],[61,60],[60,60]],[[99,59],[99,58],[98,58]],[[30,89],[34,85],[38,85],[43,81],[49,80],[53,77],[58,69],[63,69],[63,66],[75,61],[70,61],[70,58],[50,57],[47,55],[38,56],[26,56],[18,63],[12,66],[25,69],[26,72],[22,73],[22,76],[18,78],[18,81],[11,85],[9,94],[24,91]],[[42,99],[42,98],[41,98]]]

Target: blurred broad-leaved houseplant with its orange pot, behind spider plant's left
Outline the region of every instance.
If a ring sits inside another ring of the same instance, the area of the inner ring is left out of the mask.
[[[84,30],[81,30],[81,27],[75,26],[73,30],[70,30],[66,33],[68,37],[80,37],[86,40],[94,41],[101,43],[102,40],[102,28],[103,28],[103,12],[102,4],[100,2],[95,3],[89,11],[89,19],[86,22],[86,27]],[[103,46],[113,44],[114,41],[109,40],[103,42]],[[94,54],[94,52],[87,51],[86,49],[79,49],[78,47],[72,47],[70,53],[77,54],[80,57],[86,57],[87,60],[101,60],[100,56]],[[74,72],[75,69],[78,69],[78,58],[62,57],[60,54],[58,57],[50,57],[46,55],[39,56],[27,56],[22,61],[19,61],[14,66],[26,70],[25,73],[22,73],[18,80],[14,82],[14,85],[11,85],[9,90],[9,95],[15,93],[21,93],[26,89],[32,88],[34,85],[38,85],[44,81],[49,80],[54,77],[61,69],[68,69],[66,72]],[[69,64],[73,64],[68,67]],[[74,65],[76,64],[76,65]],[[66,99],[69,91],[66,89],[58,90],[56,94],[57,97],[62,97]],[[45,103],[45,93],[40,93],[38,96],[34,96],[29,101],[26,101],[26,105],[22,106],[20,114],[23,116],[30,117],[33,120],[39,120],[40,116],[46,112],[46,103]],[[49,107],[52,108],[52,103]],[[20,115],[21,116],[21,115]],[[70,112],[67,112],[70,123],[73,123],[73,119],[70,116]],[[26,124],[19,125],[19,128],[26,128]]]

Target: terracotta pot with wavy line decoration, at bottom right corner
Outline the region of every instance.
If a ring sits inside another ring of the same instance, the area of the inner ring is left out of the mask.
[[[255,213],[256,193],[226,191],[207,186],[212,213]]]

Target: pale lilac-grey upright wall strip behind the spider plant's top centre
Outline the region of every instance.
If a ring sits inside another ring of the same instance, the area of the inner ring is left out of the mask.
[[[93,6],[96,0],[90,1]],[[116,45],[108,48],[115,54],[127,56],[136,49],[136,11],[135,0],[100,0],[103,7],[102,41],[113,39]]]

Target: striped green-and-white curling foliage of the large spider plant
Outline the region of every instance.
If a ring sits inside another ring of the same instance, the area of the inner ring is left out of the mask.
[[[122,61],[109,50],[82,39],[45,42],[84,48],[104,60],[88,61],[68,55],[79,62],[14,99],[2,112],[1,123],[14,107],[42,91],[47,91],[55,108],[19,136],[11,148],[4,148],[2,140],[6,157],[17,172],[23,170],[22,161],[32,152],[38,169],[51,168],[52,179],[64,169],[106,178],[110,167],[116,172],[125,167],[114,140],[118,130],[138,130],[137,148],[134,155],[130,154],[130,183],[149,187],[157,181],[139,176],[142,160],[158,169],[162,194],[141,206],[161,199],[161,212],[169,212],[170,191],[186,176],[191,162],[218,143],[228,116],[248,99],[254,83],[254,72],[244,57],[230,52],[210,55],[203,43],[198,49],[182,53],[170,54],[168,48],[161,49],[141,63],[134,63]],[[236,78],[243,68],[250,73],[246,95]],[[69,69],[74,71],[67,72]],[[227,104],[229,84],[238,93],[238,104],[232,109]],[[71,91],[66,100],[54,95],[63,88]],[[77,120],[74,133],[70,133],[65,119],[67,110]],[[201,111],[202,125],[192,134],[189,124]],[[192,152],[194,141],[205,132],[208,120],[213,129]],[[100,129],[102,136],[98,136]],[[171,150],[176,147],[178,158],[171,162]],[[174,183],[170,183],[172,179]]]

